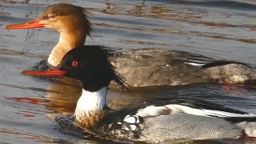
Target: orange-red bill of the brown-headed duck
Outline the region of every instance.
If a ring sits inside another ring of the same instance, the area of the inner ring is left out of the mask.
[[[46,27],[39,23],[38,19],[34,19],[30,22],[18,23],[14,25],[5,26],[5,29],[33,29],[33,28],[43,28]]]

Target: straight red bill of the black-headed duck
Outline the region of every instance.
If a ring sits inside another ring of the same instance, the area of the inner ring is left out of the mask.
[[[58,76],[65,75],[66,71],[64,70],[23,70],[22,74],[25,75],[38,75],[38,76]]]

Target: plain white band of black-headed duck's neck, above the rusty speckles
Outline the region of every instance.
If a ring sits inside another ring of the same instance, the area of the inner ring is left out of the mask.
[[[94,113],[103,110],[106,106],[106,90],[107,86],[95,92],[82,89],[82,95],[78,99],[77,107],[74,112],[75,118],[79,121],[79,118],[86,115],[89,116],[90,112]]]

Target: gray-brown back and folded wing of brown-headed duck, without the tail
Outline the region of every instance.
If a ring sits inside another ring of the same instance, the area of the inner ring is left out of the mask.
[[[199,54],[161,49],[129,50],[110,59],[132,87],[205,82],[209,77],[201,66],[213,61]]]

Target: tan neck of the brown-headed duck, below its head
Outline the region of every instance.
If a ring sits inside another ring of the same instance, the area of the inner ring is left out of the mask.
[[[52,66],[58,66],[64,55],[77,46],[83,46],[86,41],[86,34],[82,31],[60,33],[58,44],[51,51],[48,62]]]

